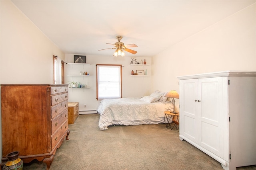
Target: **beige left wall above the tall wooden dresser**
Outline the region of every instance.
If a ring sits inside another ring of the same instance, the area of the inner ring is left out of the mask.
[[[64,53],[9,0],[0,1],[0,83],[53,83]]]

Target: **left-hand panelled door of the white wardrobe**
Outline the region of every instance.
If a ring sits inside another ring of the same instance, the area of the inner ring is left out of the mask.
[[[198,79],[180,80],[180,137],[198,141],[197,95]]]

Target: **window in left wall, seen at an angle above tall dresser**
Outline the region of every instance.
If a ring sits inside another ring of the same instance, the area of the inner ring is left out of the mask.
[[[64,84],[64,61],[53,56],[53,82],[54,84]]]

